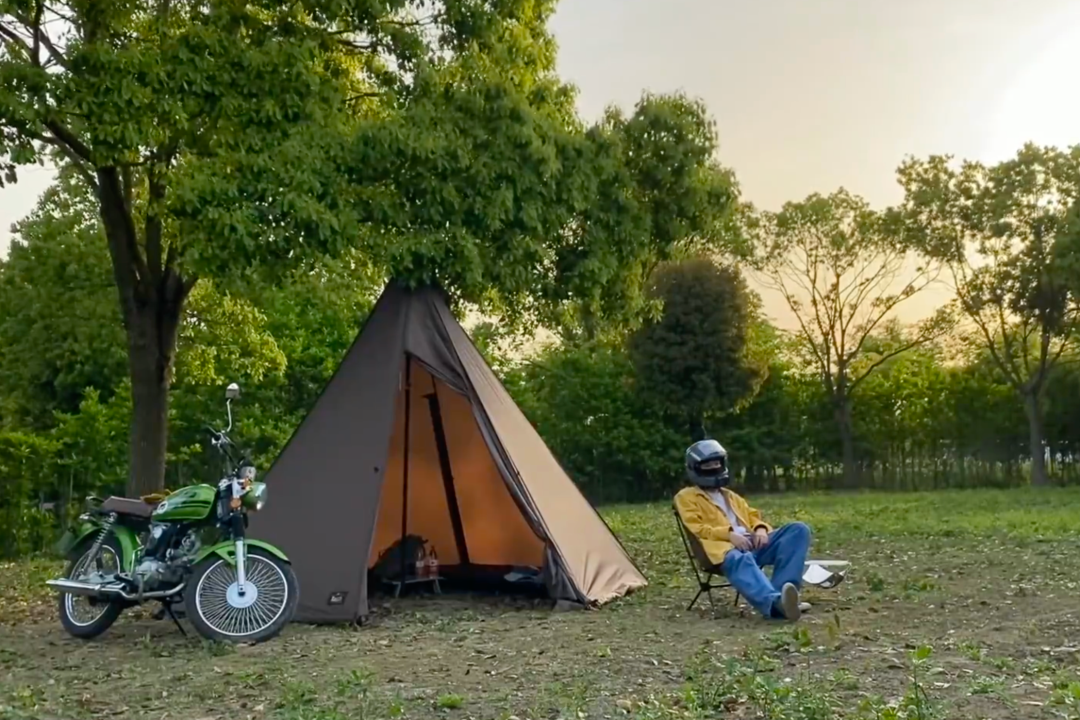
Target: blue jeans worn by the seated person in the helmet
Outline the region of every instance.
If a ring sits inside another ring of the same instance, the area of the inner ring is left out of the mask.
[[[766,617],[783,616],[777,608],[786,583],[802,584],[802,568],[810,549],[810,528],[792,522],[769,533],[769,544],[755,551],[731,549],[724,556],[720,571],[731,586]],[[770,581],[761,568],[772,566]]]

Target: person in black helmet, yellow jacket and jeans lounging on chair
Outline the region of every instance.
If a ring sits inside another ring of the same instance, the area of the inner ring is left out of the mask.
[[[773,530],[745,500],[728,489],[728,453],[716,440],[686,451],[693,484],[675,495],[683,525],[700,542],[713,570],[727,578],[746,601],[770,619],[796,621],[809,606],[799,602],[810,528],[792,522]],[[772,566],[772,580],[761,568]]]

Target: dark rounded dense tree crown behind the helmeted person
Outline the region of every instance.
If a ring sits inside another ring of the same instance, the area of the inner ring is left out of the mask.
[[[630,338],[643,396],[693,435],[707,416],[746,400],[765,376],[747,348],[757,298],[730,266],[697,258],[661,266],[650,295],[663,305]]]

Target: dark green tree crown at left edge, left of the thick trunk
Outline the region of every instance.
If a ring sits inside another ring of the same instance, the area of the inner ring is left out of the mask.
[[[15,232],[0,260],[0,419],[40,430],[87,388],[112,394],[124,334],[96,208],[70,174]]]

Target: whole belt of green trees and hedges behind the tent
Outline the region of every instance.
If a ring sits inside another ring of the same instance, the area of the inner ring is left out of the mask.
[[[702,103],[577,118],[553,10],[0,0],[0,172],[62,167],[0,262],[2,552],[125,465],[215,473],[227,382],[265,466],[391,276],[481,314],[597,502],[666,499],[688,417],[752,490],[1077,479],[1080,149],[912,160],[895,210],[839,190],[755,213]],[[741,255],[798,331],[687,261]],[[947,341],[948,312],[893,318],[940,268],[968,320]],[[125,460],[125,423],[152,453]]]

